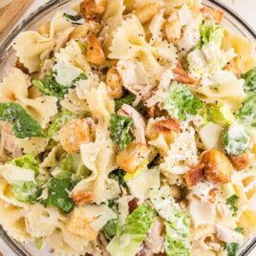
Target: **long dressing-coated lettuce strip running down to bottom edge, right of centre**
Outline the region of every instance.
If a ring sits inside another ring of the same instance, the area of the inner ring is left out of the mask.
[[[168,186],[154,187],[150,191],[150,200],[165,220],[165,252],[168,256],[189,256],[189,218],[170,196]]]

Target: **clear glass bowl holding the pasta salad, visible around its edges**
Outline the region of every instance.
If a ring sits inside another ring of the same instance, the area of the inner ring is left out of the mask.
[[[70,0],[52,0],[47,4],[43,5],[37,11],[31,13],[20,25],[12,30],[12,32],[4,39],[0,46],[0,79],[4,76],[5,70],[12,66],[15,58],[13,50],[11,49],[11,42],[15,36],[22,31],[34,30],[40,23],[45,20],[49,20],[55,11],[68,10],[71,5]],[[203,5],[219,9],[224,11],[224,26],[229,31],[237,34],[244,35],[250,41],[256,43],[256,33],[246,24],[246,22],[236,13],[231,11],[229,8],[224,6],[218,0],[203,0]],[[256,218],[256,217],[255,217]],[[3,230],[0,225],[0,239],[10,247],[14,255],[17,256],[48,256],[51,255],[49,248],[38,250],[34,245],[31,244],[20,244]],[[256,235],[251,239],[247,240],[244,245],[241,246],[239,256],[248,255],[248,253],[256,246]]]

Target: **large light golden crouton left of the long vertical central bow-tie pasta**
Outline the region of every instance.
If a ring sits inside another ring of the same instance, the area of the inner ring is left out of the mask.
[[[80,145],[94,140],[91,118],[73,119],[59,130],[60,144],[69,154],[78,153]]]

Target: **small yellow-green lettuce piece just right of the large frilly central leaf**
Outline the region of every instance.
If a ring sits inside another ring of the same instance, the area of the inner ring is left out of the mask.
[[[231,125],[235,121],[232,112],[223,103],[207,108],[208,121],[216,122],[220,125]]]

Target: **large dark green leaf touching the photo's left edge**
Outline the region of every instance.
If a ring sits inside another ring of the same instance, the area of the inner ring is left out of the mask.
[[[12,132],[16,138],[45,137],[40,124],[17,103],[0,103],[0,120],[13,124]]]

